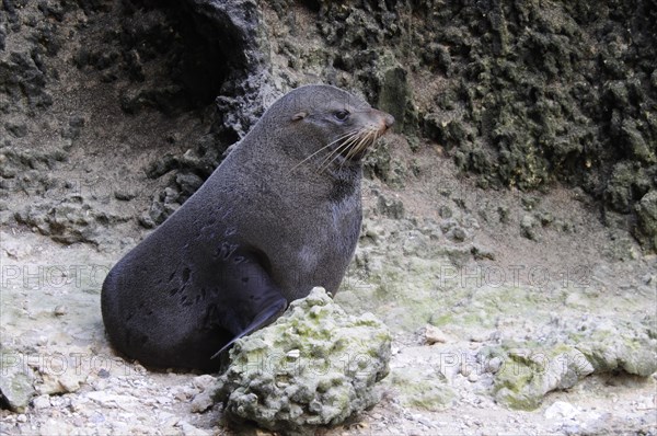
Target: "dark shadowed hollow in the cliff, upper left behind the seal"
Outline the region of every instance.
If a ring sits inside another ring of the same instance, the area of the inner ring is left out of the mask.
[[[117,82],[127,113],[204,108],[226,92],[229,79],[245,77],[245,47],[234,25],[210,22],[188,3],[124,0],[111,15],[90,20],[91,43],[76,54],[76,65]]]

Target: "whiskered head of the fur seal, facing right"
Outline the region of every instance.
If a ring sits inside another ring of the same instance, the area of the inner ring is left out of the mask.
[[[292,133],[286,151],[300,164],[315,162],[320,169],[359,164],[374,141],[394,123],[394,117],[372,108],[364,100],[330,85],[298,88],[279,99],[268,113]],[[283,118],[283,119],[281,119]],[[301,135],[302,134],[302,135]]]

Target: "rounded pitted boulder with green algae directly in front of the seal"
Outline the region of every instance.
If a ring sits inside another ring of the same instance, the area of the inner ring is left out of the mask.
[[[348,315],[323,288],[238,341],[216,399],[234,422],[286,433],[336,425],[379,401],[391,335],[371,313]]]

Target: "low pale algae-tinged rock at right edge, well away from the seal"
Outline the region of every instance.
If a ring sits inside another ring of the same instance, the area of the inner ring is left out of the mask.
[[[620,370],[649,377],[657,371],[657,333],[645,320],[587,317],[540,343],[507,341],[477,357],[503,362],[493,385],[497,402],[534,410],[548,392],[570,388],[590,374]]]

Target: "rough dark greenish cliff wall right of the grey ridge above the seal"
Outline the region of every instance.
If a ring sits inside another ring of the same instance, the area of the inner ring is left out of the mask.
[[[482,186],[565,182],[622,214],[621,226],[657,187],[653,1],[269,4],[272,49],[292,67],[277,66],[279,80],[311,72],[361,89]]]

